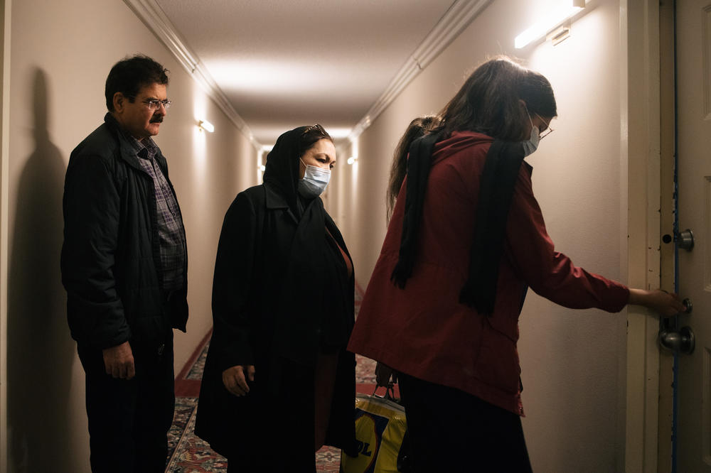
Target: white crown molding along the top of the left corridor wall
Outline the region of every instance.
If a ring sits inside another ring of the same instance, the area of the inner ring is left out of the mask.
[[[203,66],[198,56],[188,48],[186,41],[178,34],[175,26],[169,20],[166,13],[161,9],[155,0],[124,0],[124,3],[136,13],[136,16],[146,25],[146,27],[163,43],[166,48],[178,60],[188,74],[200,85],[205,93],[215,101],[220,110],[232,121],[238,130],[249,138],[252,146],[259,150],[262,146],[258,143],[247,123],[232,107],[230,100],[220,89],[207,69]]]

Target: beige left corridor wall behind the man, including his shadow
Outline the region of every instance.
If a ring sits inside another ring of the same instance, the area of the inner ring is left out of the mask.
[[[188,236],[191,318],[188,334],[176,334],[177,370],[212,323],[220,226],[237,191],[256,183],[257,155],[120,0],[12,1],[10,41],[10,471],[87,472],[84,376],[60,283],[61,205],[70,152],[106,112],[109,68],[140,52],[171,70],[173,107],[156,142],[169,160]],[[197,130],[200,118],[215,125],[214,134]]]

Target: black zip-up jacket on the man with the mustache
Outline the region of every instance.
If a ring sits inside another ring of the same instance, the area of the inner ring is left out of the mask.
[[[104,121],[72,151],[65,178],[69,327],[78,344],[98,349],[161,343],[171,327],[186,330],[187,281],[171,294],[161,289],[153,178],[114,117]],[[155,159],[173,190],[166,158],[159,151]]]

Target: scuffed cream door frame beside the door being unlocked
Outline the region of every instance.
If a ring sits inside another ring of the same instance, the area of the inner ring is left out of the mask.
[[[623,0],[620,12],[628,283],[631,287],[671,291],[673,245],[661,244],[661,235],[671,233],[673,222],[673,3]],[[673,357],[660,352],[658,330],[658,315],[638,306],[629,308],[627,472],[671,471]]]

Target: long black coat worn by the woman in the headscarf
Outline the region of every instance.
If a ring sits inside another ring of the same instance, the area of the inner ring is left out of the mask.
[[[313,205],[323,206],[319,198]],[[328,232],[347,253],[341,232],[323,214]],[[299,220],[269,183],[240,192],[225,215],[213,283],[214,331],[205,361],[196,434],[231,458],[258,455],[255,452],[264,450],[267,439],[277,445],[300,442],[301,450],[294,451],[313,449],[313,366],[293,361],[289,349],[275,346],[274,339],[279,339],[280,327],[289,320],[308,315],[316,294],[342,302],[345,313],[333,317],[342,317],[347,330],[343,345],[336,347],[340,355],[326,443],[353,449],[355,355],[345,351],[345,344],[353,328],[355,280],[344,276],[346,283],[339,285],[322,271],[309,283],[313,293],[290,293],[289,288],[299,283],[289,271],[294,251],[298,251],[292,247],[298,229]],[[345,272],[345,263],[339,259]],[[298,324],[289,330],[297,343],[318,343],[319,338],[309,333],[318,328]],[[223,386],[222,371],[250,364],[256,371],[250,393],[233,396]]]

